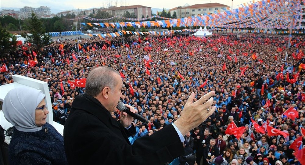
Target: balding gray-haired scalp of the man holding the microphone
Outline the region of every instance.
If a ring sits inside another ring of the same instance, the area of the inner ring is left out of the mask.
[[[106,66],[91,70],[86,80],[86,94],[96,97],[105,87],[109,87],[113,93],[114,87],[118,84],[115,74],[120,75],[116,70]]]

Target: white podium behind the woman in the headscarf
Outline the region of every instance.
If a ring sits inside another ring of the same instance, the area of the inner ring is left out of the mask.
[[[14,89],[14,88],[18,88],[18,87],[30,87],[30,88],[35,88],[38,90],[41,90],[44,94],[45,94],[45,101],[48,105],[48,115],[47,115],[47,119],[46,121],[53,125],[53,127],[56,128],[56,130],[63,135],[63,125],[58,124],[56,122],[53,122],[53,113],[52,113],[52,102],[51,102],[51,97],[50,97],[50,93],[49,93],[49,88],[48,88],[48,84],[44,81],[40,81],[40,80],[36,80],[33,78],[29,78],[29,77],[24,77],[24,76],[20,76],[20,75],[13,75],[13,83],[10,84],[5,84],[5,85],[1,85],[0,86],[0,104],[1,104],[1,108],[2,108],[2,103],[3,103],[3,99],[5,98],[6,94]],[[11,123],[9,123],[5,117],[4,114],[2,112],[2,109],[0,109],[0,125],[6,130],[9,127],[13,127],[13,125]],[[10,141],[10,137],[5,137],[5,142],[7,144],[9,144]]]

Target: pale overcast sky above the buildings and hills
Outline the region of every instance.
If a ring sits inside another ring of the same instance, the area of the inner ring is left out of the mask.
[[[247,3],[250,0],[234,0],[233,8],[237,8],[242,3]],[[210,0],[0,0],[0,7],[22,8],[23,6],[31,6],[37,8],[39,6],[48,6],[51,9],[69,10],[69,9],[89,9],[113,5],[117,2],[120,5],[144,5],[151,8],[171,9],[178,6],[183,6],[186,3],[195,5],[200,3],[217,2],[231,6],[231,0],[210,1]]]

